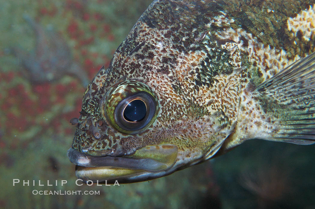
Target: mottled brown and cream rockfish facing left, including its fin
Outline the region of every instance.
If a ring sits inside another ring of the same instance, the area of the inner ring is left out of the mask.
[[[314,4],[154,1],[84,93],[76,176],[137,182],[248,139],[313,144]]]

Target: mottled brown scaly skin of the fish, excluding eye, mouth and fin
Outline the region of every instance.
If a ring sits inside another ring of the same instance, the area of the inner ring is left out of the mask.
[[[279,116],[250,92],[297,57],[314,52],[314,35],[305,41],[287,27],[289,17],[314,3],[154,1],[110,66],[87,87],[72,147],[115,157],[147,145],[173,144],[179,150],[176,162],[185,167],[212,157],[224,141],[223,151],[258,138],[251,128],[277,132],[272,121]],[[284,61],[275,58],[280,54]],[[156,94],[157,118],[142,133],[123,134],[104,116],[102,101],[121,78],[137,79]]]

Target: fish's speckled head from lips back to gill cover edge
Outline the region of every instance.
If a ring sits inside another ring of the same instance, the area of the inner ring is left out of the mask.
[[[212,63],[222,72],[205,71],[209,31],[152,27],[149,12],[83,96],[68,150],[80,179],[128,183],[168,175],[212,157],[235,126],[242,74],[226,70],[230,55]]]

